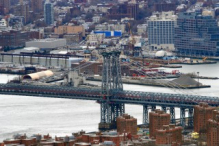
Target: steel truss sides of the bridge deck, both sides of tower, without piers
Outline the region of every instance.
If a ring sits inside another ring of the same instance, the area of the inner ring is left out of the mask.
[[[32,94],[47,94],[57,96],[72,96],[73,97],[96,97],[102,100],[103,94],[101,89],[94,88],[76,88],[72,86],[57,86],[57,85],[29,85],[29,84],[0,84],[0,92],[26,92]],[[155,92],[140,92],[140,91],[111,91],[112,100],[120,100],[123,103],[143,104],[145,102],[154,104],[168,104],[174,106],[193,106],[200,102],[206,102],[212,106],[219,105],[219,97],[198,96],[187,94],[170,94],[170,93],[155,93]],[[104,99],[103,99],[104,100]],[[135,101],[135,102],[133,102]]]

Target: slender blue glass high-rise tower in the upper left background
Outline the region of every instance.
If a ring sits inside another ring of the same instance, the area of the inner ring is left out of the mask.
[[[47,25],[51,25],[54,23],[53,4],[49,1],[46,1],[44,4],[44,21]]]

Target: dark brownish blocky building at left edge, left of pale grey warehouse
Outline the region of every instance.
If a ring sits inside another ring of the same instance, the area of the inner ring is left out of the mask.
[[[2,31],[0,32],[0,46],[16,49],[25,46],[28,40],[28,33],[24,31]]]

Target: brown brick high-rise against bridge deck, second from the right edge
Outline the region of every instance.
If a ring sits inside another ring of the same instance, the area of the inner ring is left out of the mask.
[[[215,107],[209,106],[207,103],[199,103],[194,106],[194,131],[198,133],[206,133],[207,122],[212,118],[212,111]]]

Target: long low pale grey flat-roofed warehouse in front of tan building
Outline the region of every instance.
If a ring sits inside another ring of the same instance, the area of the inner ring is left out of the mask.
[[[55,38],[47,38],[47,39],[39,39],[26,42],[26,47],[38,47],[40,49],[55,49],[58,47],[66,46],[66,39],[55,39]]]

